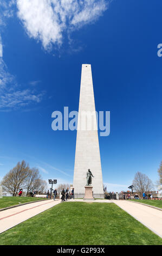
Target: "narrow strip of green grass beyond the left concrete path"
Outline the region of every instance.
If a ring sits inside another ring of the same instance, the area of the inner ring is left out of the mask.
[[[42,200],[46,198],[40,198],[40,197],[3,197],[0,198],[0,209],[6,208],[12,205],[16,204],[23,204],[28,202],[33,202],[37,200]]]

